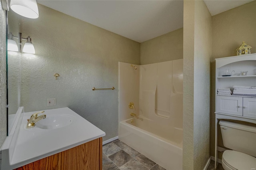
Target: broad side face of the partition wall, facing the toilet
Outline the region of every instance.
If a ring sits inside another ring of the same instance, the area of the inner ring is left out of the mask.
[[[210,158],[210,58],[212,16],[204,1],[195,1],[194,35],[194,170]]]

